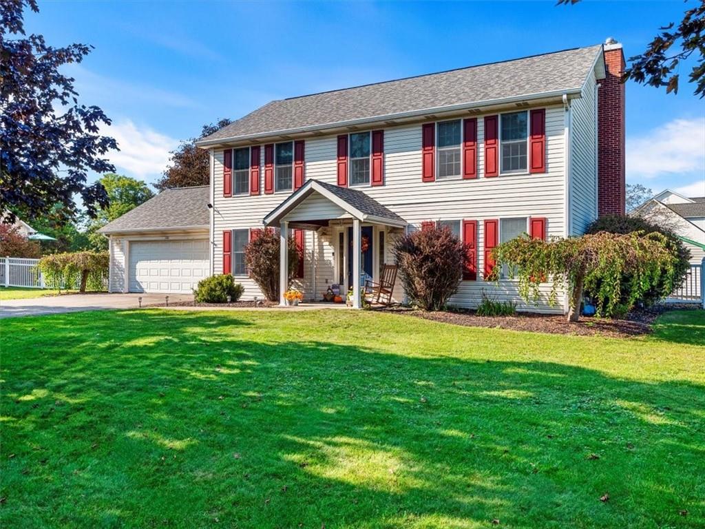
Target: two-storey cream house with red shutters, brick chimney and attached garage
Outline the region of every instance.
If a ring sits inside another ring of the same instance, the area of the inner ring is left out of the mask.
[[[624,67],[608,39],[269,102],[197,142],[209,188],[166,191],[102,230],[111,289],[185,291],[202,274],[231,273],[243,299],[262,296],[244,250],[271,228],[283,248],[289,237],[300,248],[293,286],[306,299],[338,284],[359,306],[361,280],[393,261],[396,238],[437,222],[470,245],[452,303],[472,308],[487,293],[537,310],[516,281],[484,281],[490,251],[624,213]],[[400,285],[394,295],[403,300]],[[566,307],[561,298],[538,310]]]

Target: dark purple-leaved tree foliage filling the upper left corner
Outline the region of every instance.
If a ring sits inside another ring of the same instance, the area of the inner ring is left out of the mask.
[[[78,193],[93,217],[108,197],[100,183],[87,183],[87,174],[114,171],[102,156],[117,144],[99,133],[109,118],[78,104],[73,78],[59,72],[80,63],[90,47],[50,47],[42,35],[8,38],[25,35],[25,7],[39,11],[36,0],[0,2],[0,211],[36,218],[59,203],[71,217]]]

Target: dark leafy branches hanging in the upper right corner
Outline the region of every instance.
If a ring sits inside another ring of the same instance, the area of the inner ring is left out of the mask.
[[[558,0],[558,4],[577,4],[580,0]],[[673,5],[678,5],[675,2]],[[695,95],[705,96],[705,0],[695,1],[678,24],[671,22],[659,28],[646,51],[629,58],[630,67],[623,80],[655,87],[666,87],[666,93],[678,93],[680,64],[695,54],[689,81],[695,83]]]

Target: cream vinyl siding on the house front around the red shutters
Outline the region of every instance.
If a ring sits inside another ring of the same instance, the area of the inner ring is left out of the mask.
[[[420,226],[427,220],[478,221],[478,270],[484,267],[483,221],[501,217],[546,217],[548,236],[565,235],[565,141],[564,111],[560,105],[546,108],[546,173],[512,174],[495,178],[484,178],[484,116],[477,117],[478,140],[478,175],[474,180],[448,179],[435,182],[422,182],[422,123],[412,126],[398,126],[384,130],[384,186],[360,186],[369,196],[378,200],[409,224]],[[493,113],[494,114],[494,113]],[[315,178],[328,183],[337,183],[337,135],[307,139],[305,143],[305,178]],[[264,148],[261,150],[261,183],[264,190]],[[289,193],[274,193],[257,196],[223,197],[223,151],[214,152],[214,273],[221,274],[222,232],[238,228],[257,228],[262,226],[262,219],[278,206]],[[309,207],[309,205],[306,205]],[[323,207],[312,200],[311,210]],[[329,206],[326,206],[329,207]],[[410,227],[410,229],[412,229]],[[317,285],[316,296],[321,297],[327,286],[324,280],[337,282],[333,277],[334,252],[337,250],[336,229],[321,229],[317,235]],[[375,232],[376,233],[376,232]],[[386,254],[388,262],[393,261],[391,248],[393,237],[388,237]],[[307,260],[305,262],[306,279],[303,284],[311,286],[312,260],[310,246],[312,232],[306,232]],[[332,241],[332,243],[331,243]],[[335,248],[334,248],[335,245]],[[519,300],[515,283],[503,282],[499,285],[482,281],[463,281],[453,303],[474,307],[482,298],[482,290],[499,299]],[[245,293],[243,299],[262,296],[254,281],[238,278]],[[549,287],[542,288],[548,293]],[[401,300],[400,279],[397,279],[395,297]],[[310,293],[305,293],[309,298]],[[559,296],[559,301],[563,297]],[[525,308],[522,305],[522,308]],[[533,306],[531,310],[536,310]],[[548,308],[545,304],[541,310],[562,312],[563,308]]]

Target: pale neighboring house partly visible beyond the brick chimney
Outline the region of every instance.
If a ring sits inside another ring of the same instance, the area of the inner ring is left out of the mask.
[[[691,265],[700,265],[705,258],[705,197],[688,198],[666,189],[636,207],[630,215],[675,231],[690,250]]]

